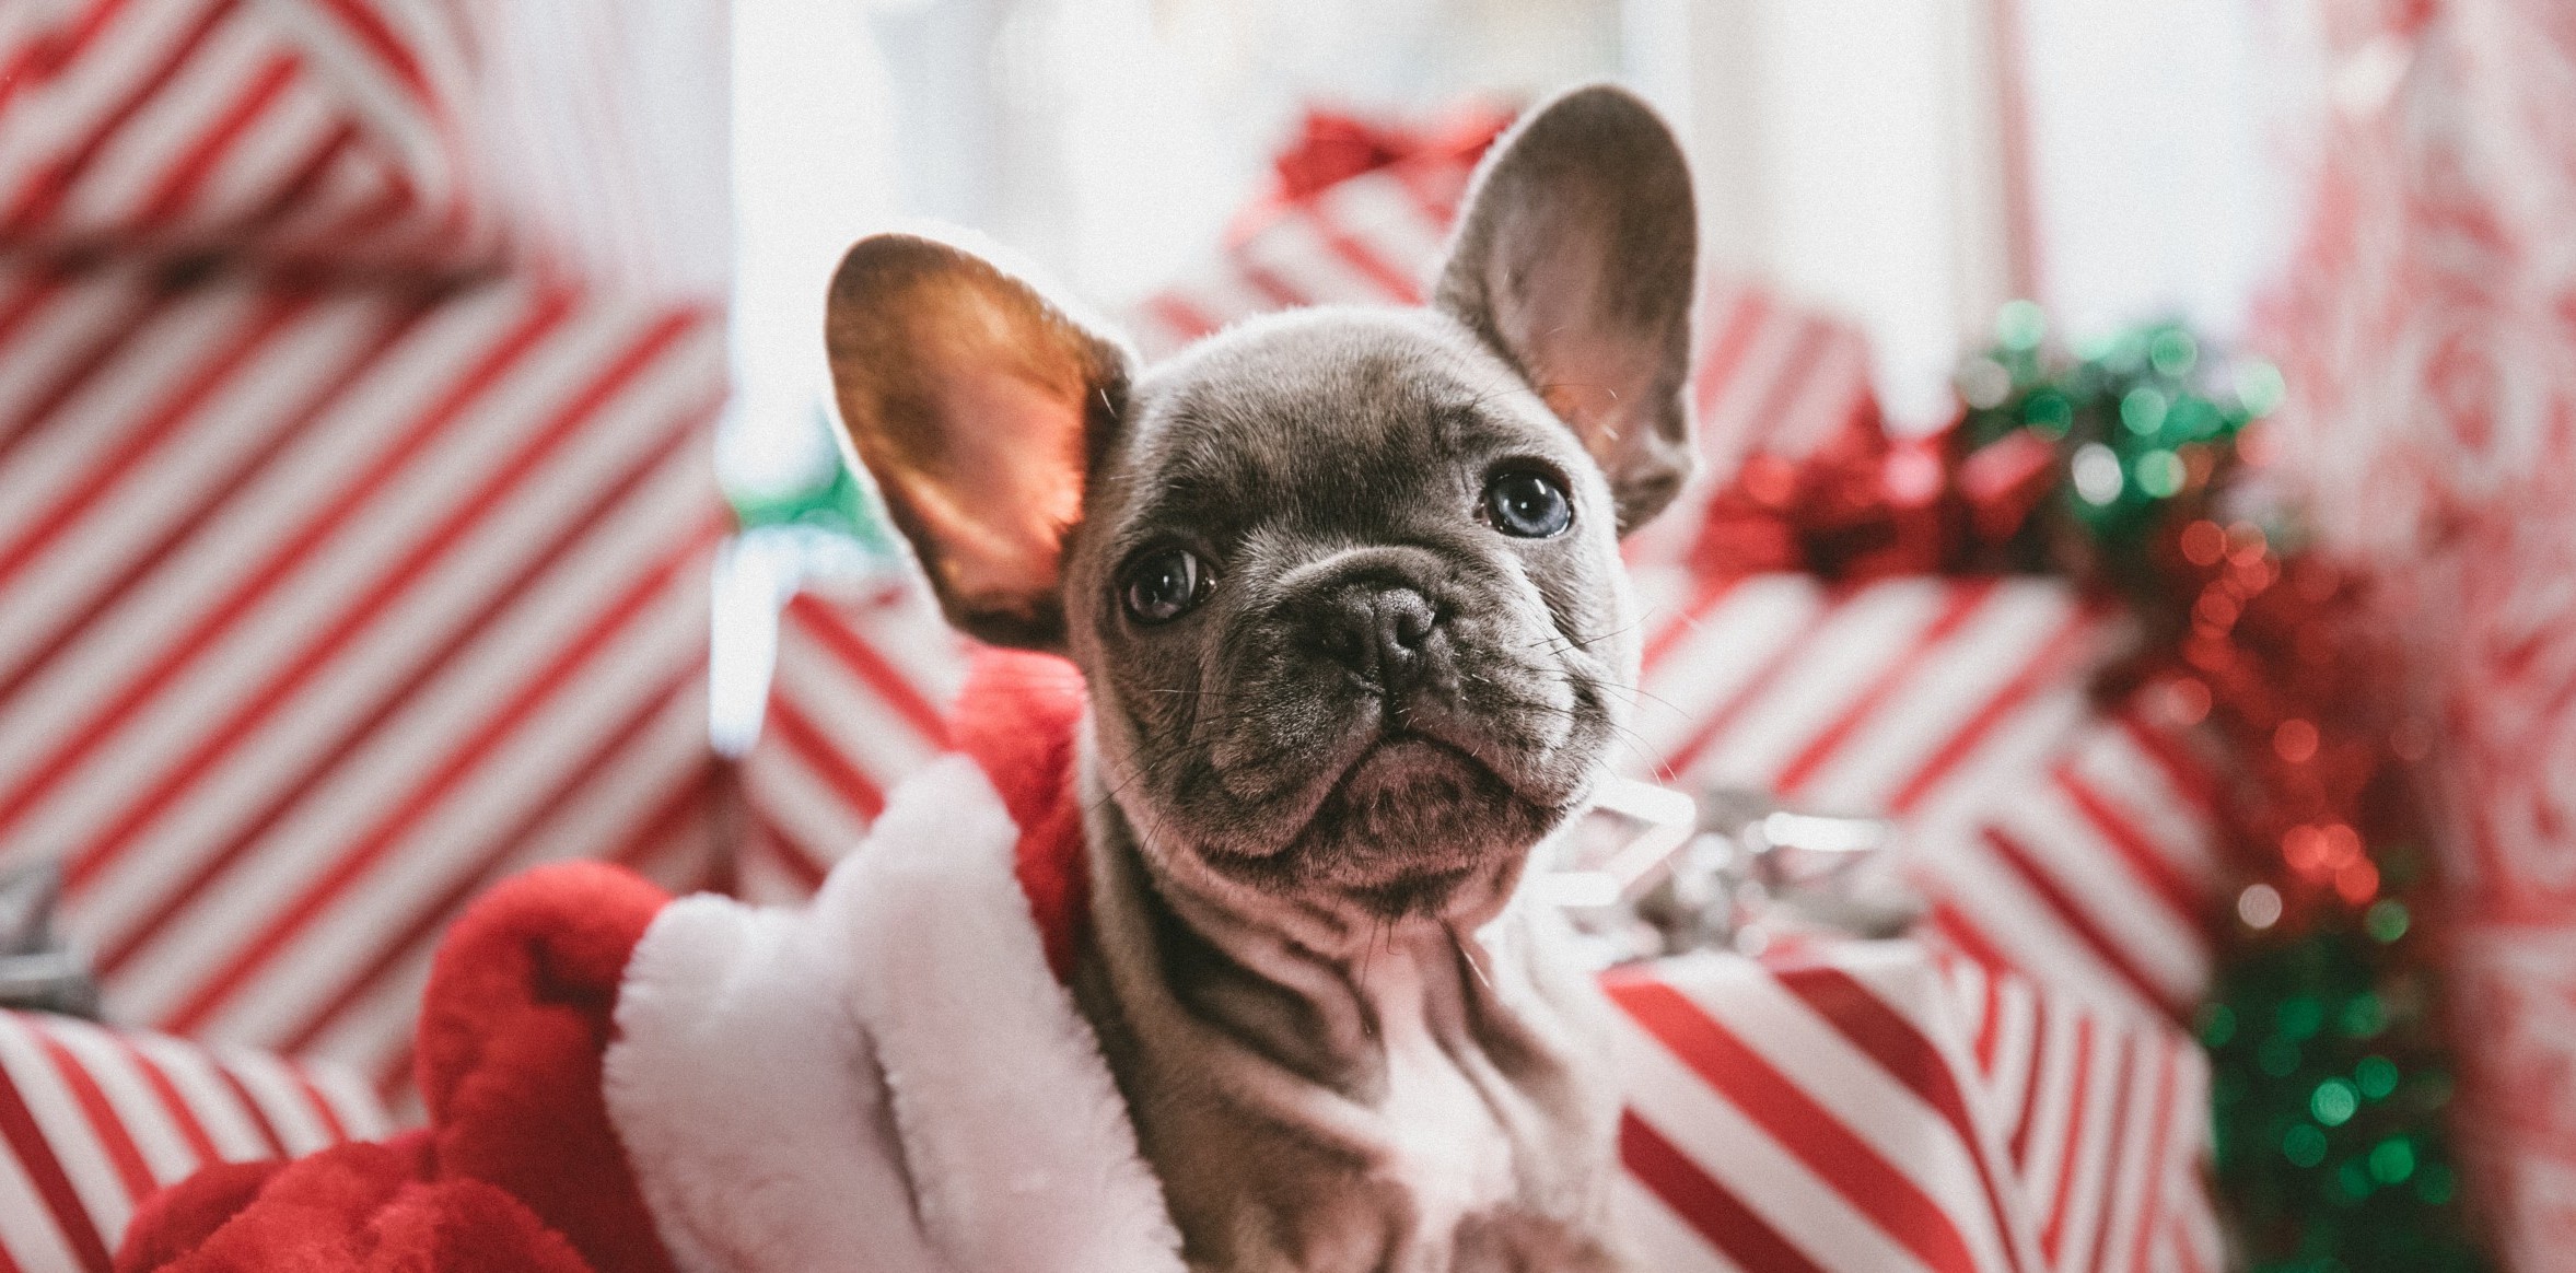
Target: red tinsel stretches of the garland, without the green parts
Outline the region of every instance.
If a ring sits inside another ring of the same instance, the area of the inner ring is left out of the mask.
[[[2360,580],[2282,554],[2251,523],[2213,521],[2210,492],[2226,477],[2195,482],[2156,523],[2143,546],[2148,590],[2117,580],[2146,642],[2105,670],[2099,693],[2148,688],[2172,724],[2213,732],[2233,778],[2221,814],[2239,861],[2280,889],[2285,930],[2303,930],[2321,905],[2383,897],[2375,853],[2419,843],[2406,763],[2424,740],[2398,727],[2396,649],[2372,639]],[[1971,451],[1958,425],[1893,438],[1862,412],[1803,459],[1747,459],[1710,500],[1692,567],[1839,582],[2061,570],[2112,593],[2084,533],[2038,518],[2063,479],[2058,446],[2032,430]]]

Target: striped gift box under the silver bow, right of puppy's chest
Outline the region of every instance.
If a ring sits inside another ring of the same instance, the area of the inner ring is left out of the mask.
[[[1643,1268],[2218,1270],[2208,1062],[1919,943],[1607,977]]]

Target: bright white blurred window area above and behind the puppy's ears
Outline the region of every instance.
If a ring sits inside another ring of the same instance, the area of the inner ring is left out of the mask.
[[[775,0],[734,8],[744,484],[809,479],[773,420],[819,384],[829,260],[969,224],[1105,309],[1185,273],[1303,111],[1430,124],[1615,77],[1682,129],[1703,253],[1860,325],[1899,417],[1968,332],[2244,330],[2287,260],[2324,106],[2303,0]],[[801,433],[801,430],[799,430]]]

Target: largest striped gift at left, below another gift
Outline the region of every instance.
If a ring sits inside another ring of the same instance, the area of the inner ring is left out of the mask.
[[[474,889],[706,876],[719,327],[0,268],[0,858],[118,1020],[399,1087]]]

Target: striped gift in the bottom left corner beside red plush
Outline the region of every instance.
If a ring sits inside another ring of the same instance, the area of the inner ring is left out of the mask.
[[[0,1268],[106,1273],[152,1191],[389,1124],[345,1067],[0,1013]]]

